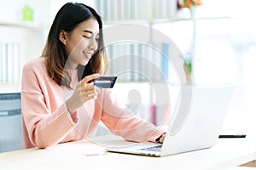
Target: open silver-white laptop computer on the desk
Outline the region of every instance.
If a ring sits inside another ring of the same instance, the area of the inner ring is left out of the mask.
[[[182,86],[182,90],[163,144],[135,143],[111,146],[106,150],[143,156],[170,156],[211,148],[217,143],[234,88]]]

